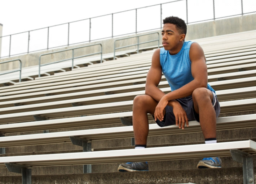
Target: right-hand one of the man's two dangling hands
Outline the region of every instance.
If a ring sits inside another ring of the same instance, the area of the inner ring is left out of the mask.
[[[175,102],[172,105],[173,108],[173,114],[175,115],[175,120],[176,120],[176,126],[179,126],[179,128],[184,129],[185,128],[185,123],[187,127],[189,126],[189,119],[187,118],[187,114],[185,110],[181,107],[180,103]]]

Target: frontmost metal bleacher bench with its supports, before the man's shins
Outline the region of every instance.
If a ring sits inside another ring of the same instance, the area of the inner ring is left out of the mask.
[[[108,150],[96,152],[76,152],[64,154],[26,155],[0,157],[0,167],[21,173],[23,184],[31,184],[31,167],[108,164],[127,161],[165,161],[211,157],[232,156],[233,160],[243,164],[245,183],[254,183],[253,159],[256,154],[256,142],[234,141],[212,144],[181,145],[145,148],[143,150]]]

